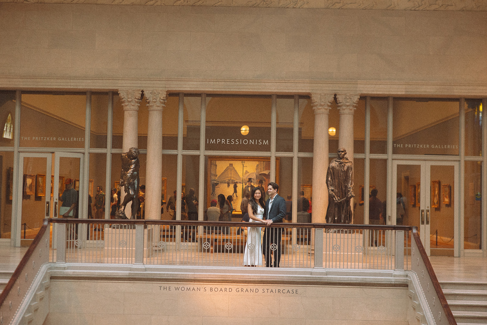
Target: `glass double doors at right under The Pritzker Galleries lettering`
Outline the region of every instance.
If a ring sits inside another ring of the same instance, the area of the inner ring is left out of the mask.
[[[395,160],[393,175],[393,224],[418,227],[428,255],[459,256],[458,162]]]

